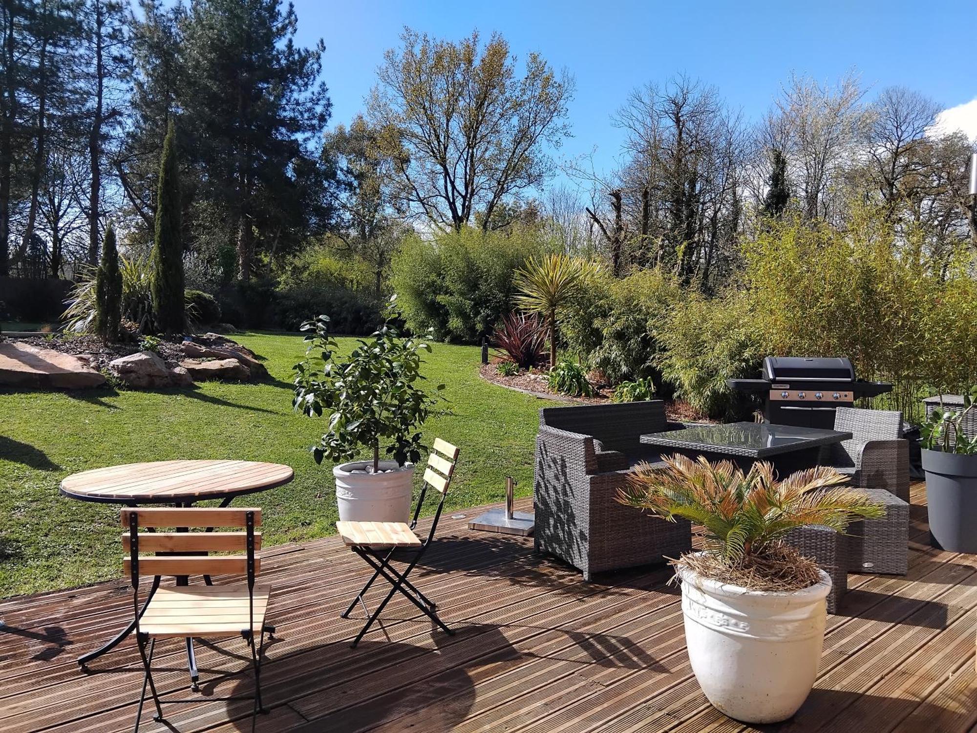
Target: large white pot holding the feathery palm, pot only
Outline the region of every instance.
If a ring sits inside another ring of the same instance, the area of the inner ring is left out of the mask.
[[[818,675],[831,579],[795,591],[748,590],[678,566],[689,661],[715,708],[748,723],[786,720]]]

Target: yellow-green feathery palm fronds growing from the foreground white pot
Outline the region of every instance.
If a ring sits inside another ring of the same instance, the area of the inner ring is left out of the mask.
[[[731,568],[762,558],[796,527],[821,524],[844,532],[857,519],[885,513],[864,492],[836,488],[848,477],[828,466],[778,481],[766,461],[743,474],[727,460],[710,463],[686,455],[663,460],[664,468],[637,466],[617,500],[672,522],[683,517],[702,525],[705,551]]]

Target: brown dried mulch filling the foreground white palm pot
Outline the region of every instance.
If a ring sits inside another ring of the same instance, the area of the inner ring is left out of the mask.
[[[670,564],[748,590],[801,590],[821,581],[818,564],[784,542],[768,544],[762,552],[747,555],[736,564],[711,552],[689,552]]]

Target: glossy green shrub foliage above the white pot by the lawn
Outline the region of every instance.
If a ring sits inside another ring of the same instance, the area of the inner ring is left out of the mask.
[[[380,470],[381,450],[401,466],[420,459],[426,448],[420,428],[440,397],[421,386],[421,354],[431,346],[402,336],[397,317],[392,298],[386,323],[358,339],[348,357],[336,352],[328,316],[302,324],[309,346],[306,360],[295,366],[292,406],[310,416],[329,413],[329,430],[312,449],[317,463],[350,460],[362,449],[372,455],[374,472]]]

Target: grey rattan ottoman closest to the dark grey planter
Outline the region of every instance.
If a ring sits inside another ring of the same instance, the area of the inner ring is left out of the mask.
[[[885,516],[848,526],[848,570],[904,576],[909,570],[910,505],[884,489],[865,493],[885,506]]]

